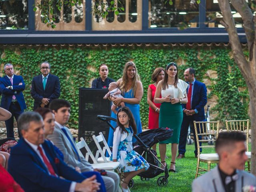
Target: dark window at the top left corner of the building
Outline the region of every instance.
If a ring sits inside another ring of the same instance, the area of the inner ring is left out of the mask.
[[[0,29],[28,29],[28,0],[0,0]]]

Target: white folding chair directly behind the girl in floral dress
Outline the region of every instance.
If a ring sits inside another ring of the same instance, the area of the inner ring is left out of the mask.
[[[112,152],[111,152],[111,150],[108,146],[108,143],[106,142],[102,132],[100,132],[98,136],[93,135],[92,138],[93,138],[93,140],[94,140],[94,142],[95,142],[95,144],[98,148],[98,150],[96,152],[96,155],[95,155],[95,158],[96,158],[97,162],[98,163],[112,162],[109,157],[105,156],[106,151],[108,152],[109,155],[111,155]],[[100,142],[102,142],[104,144],[103,148],[101,148]]]

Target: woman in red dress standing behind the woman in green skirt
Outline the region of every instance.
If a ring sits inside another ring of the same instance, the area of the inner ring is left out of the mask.
[[[147,101],[149,105],[149,114],[148,114],[148,128],[156,129],[158,128],[158,120],[159,120],[159,111],[160,111],[160,103],[154,103],[154,96],[156,92],[156,86],[160,80],[164,79],[164,69],[158,67],[154,70],[152,74],[153,84],[148,86],[148,96]],[[152,147],[156,151],[156,144]]]

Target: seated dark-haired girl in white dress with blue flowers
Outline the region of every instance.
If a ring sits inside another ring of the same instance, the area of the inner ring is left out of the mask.
[[[111,160],[120,162],[120,170],[124,172],[121,178],[123,192],[128,192],[130,180],[149,168],[146,160],[132,150],[132,135],[136,134],[136,123],[128,107],[122,107],[117,112],[117,127],[114,130],[113,151]]]

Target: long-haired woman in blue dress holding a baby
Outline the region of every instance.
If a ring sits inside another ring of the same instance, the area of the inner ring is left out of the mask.
[[[113,103],[118,106],[121,102],[124,102],[125,106],[130,108],[137,126],[137,134],[139,134],[142,132],[140,101],[143,96],[143,87],[134,62],[129,61],[125,64],[123,76],[116,83],[122,91],[124,98],[116,98]],[[111,112],[111,117],[116,118],[116,114]],[[113,127],[116,127],[116,122],[111,121],[110,123]],[[110,128],[108,134],[108,146],[113,146],[113,136],[114,131]],[[135,139],[132,141],[134,142]]]

